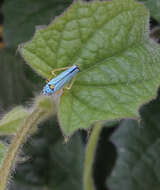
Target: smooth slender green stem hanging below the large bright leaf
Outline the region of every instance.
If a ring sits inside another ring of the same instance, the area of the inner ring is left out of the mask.
[[[91,136],[89,138],[88,145],[86,147],[85,163],[84,163],[84,189],[85,190],[95,190],[93,182],[93,172],[92,166],[94,162],[94,155],[96,152],[96,147],[99,139],[100,132],[102,130],[101,123],[95,124]]]

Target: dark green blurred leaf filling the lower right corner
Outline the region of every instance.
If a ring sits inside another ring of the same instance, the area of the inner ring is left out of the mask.
[[[142,109],[142,121],[125,120],[113,134],[118,158],[109,188],[160,189],[160,99]]]

